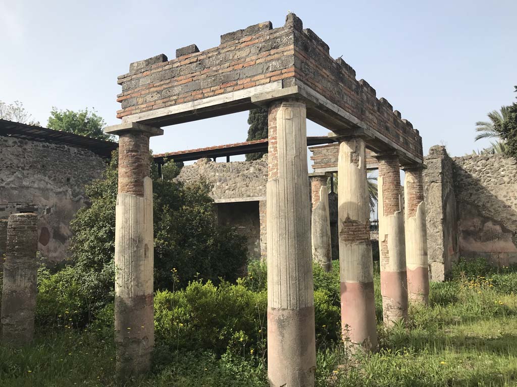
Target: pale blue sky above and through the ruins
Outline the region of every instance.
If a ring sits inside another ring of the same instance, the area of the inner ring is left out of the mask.
[[[514,101],[517,84],[516,0],[471,1],[28,1],[0,0],[0,100],[19,100],[44,126],[52,106],[95,107],[119,120],[117,75],[129,63],[291,10],[418,128],[424,153],[446,144],[470,153],[474,124]],[[247,112],[165,128],[155,152],[246,139]],[[327,130],[309,123],[309,135]]]

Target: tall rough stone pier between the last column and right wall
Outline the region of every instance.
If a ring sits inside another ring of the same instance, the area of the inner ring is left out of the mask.
[[[424,163],[430,278],[443,281],[459,256],[452,160],[445,147],[434,146]]]

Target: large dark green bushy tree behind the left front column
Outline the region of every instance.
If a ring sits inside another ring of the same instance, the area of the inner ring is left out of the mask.
[[[151,165],[155,289],[172,289],[173,276],[176,287],[196,278],[236,280],[246,264],[246,243],[234,229],[217,224],[209,187],[173,181],[179,173],[174,162],[162,167],[163,179]],[[94,300],[97,310],[113,299],[117,179],[115,151],[103,178],[86,187],[90,206],[72,221],[71,260],[85,297]]]

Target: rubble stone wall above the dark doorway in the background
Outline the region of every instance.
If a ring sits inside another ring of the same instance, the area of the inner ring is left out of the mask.
[[[181,168],[180,182],[204,181],[211,186],[210,196],[216,202],[265,200],[267,155],[252,162],[215,163],[201,158]]]

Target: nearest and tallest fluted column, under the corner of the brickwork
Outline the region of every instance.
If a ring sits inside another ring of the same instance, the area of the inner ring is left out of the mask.
[[[272,102],[268,136],[268,377],[272,387],[308,387],[316,348],[305,104]]]

